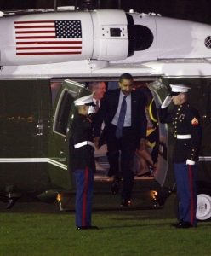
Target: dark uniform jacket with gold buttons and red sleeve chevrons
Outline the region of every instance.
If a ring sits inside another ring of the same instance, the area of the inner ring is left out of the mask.
[[[174,105],[171,113],[168,113],[168,108],[160,108],[160,121],[174,125],[174,162],[184,163],[188,159],[197,161],[202,142],[201,121],[197,109],[192,108],[188,102]],[[180,135],[191,135],[191,138],[177,138]]]

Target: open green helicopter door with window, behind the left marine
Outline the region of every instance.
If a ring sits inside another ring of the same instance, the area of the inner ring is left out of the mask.
[[[51,183],[71,189],[73,177],[69,170],[69,138],[77,108],[73,102],[91,92],[83,84],[66,79],[56,97],[48,140],[48,170]]]

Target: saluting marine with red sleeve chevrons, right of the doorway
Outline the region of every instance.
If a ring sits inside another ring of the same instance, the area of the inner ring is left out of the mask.
[[[174,172],[180,198],[180,222],[176,228],[197,227],[197,160],[202,142],[202,128],[197,109],[187,102],[190,87],[170,85],[172,91],[160,108],[160,121],[174,125]],[[174,109],[168,112],[168,104]]]

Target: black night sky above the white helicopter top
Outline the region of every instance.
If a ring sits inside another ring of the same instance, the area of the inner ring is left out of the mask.
[[[74,5],[74,0],[57,0],[58,6]],[[118,0],[100,0],[100,8],[117,8]],[[122,9],[154,12],[167,17],[211,23],[210,0],[122,0]],[[54,0],[0,0],[0,10],[54,9]]]

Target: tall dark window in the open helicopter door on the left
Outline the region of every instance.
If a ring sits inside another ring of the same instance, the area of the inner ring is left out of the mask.
[[[67,90],[64,91],[60,100],[59,111],[56,114],[54,122],[54,131],[57,131],[63,135],[66,135],[66,129],[68,125],[68,117],[71,111],[72,97]]]

